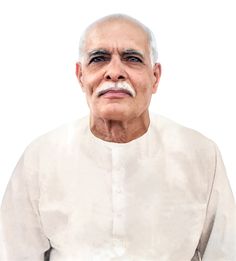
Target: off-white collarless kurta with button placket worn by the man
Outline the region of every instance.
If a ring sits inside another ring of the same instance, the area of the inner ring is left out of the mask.
[[[7,261],[235,261],[236,215],[216,145],[151,116],[125,144],[89,118],[36,141],[17,164],[1,222]]]

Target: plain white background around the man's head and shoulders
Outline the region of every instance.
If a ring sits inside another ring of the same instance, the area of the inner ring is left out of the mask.
[[[214,140],[236,195],[233,0],[0,0],[0,199],[33,139],[88,113],[74,74],[79,36],[117,12],[157,37],[163,74],[151,111]]]

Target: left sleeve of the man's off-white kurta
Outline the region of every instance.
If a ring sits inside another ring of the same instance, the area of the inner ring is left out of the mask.
[[[4,261],[43,261],[50,248],[38,211],[39,184],[27,168],[24,156],[18,162],[1,206]]]

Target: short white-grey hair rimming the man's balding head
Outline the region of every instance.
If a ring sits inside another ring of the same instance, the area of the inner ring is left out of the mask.
[[[156,45],[156,39],[154,34],[152,33],[152,31],[144,24],[142,24],[140,21],[138,21],[137,19],[125,15],[125,14],[112,14],[112,15],[108,15],[105,17],[102,17],[98,20],[96,20],[95,22],[93,22],[92,24],[90,24],[85,31],[83,32],[81,38],[80,38],[80,42],[79,42],[79,60],[81,61],[84,55],[84,48],[85,48],[85,40],[87,37],[87,34],[90,32],[90,30],[92,28],[94,28],[97,24],[102,23],[102,22],[107,22],[107,21],[114,21],[114,20],[127,20],[127,21],[131,21],[132,23],[138,25],[139,27],[141,27],[143,29],[144,32],[146,32],[147,37],[148,37],[148,41],[149,41],[149,47],[150,47],[150,55],[151,55],[151,61],[152,64],[155,64],[157,62],[158,59],[158,51],[157,51],[157,45]]]

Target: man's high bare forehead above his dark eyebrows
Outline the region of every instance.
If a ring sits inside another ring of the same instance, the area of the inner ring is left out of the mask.
[[[115,20],[94,25],[85,38],[85,52],[96,48],[149,52],[148,35],[132,21]]]

